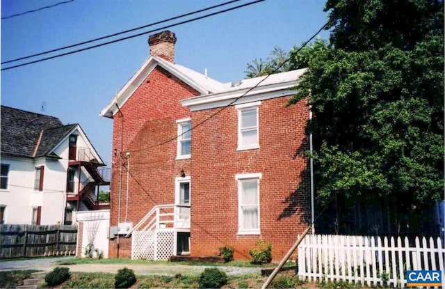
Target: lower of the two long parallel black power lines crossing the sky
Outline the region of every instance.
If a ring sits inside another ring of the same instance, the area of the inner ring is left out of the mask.
[[[174,27],[174,26],[179,26],[181,24],[186,24],[186,23],[189,23],[189,22],[195,22],[195,21],[200,20],[200,19],[211,17],[213,15],[226,13],[228,11],[236,10],[236,9],[239,9],[239,8],[243,8],[245,6],[250,6],[252,4],[256,4],[256,3],[259,3],[259,2],[262,2],[262,1],[266,1],[266,0],[256,0],[256,1],[248,2],[248,3],[242,4],[242,5],[234,6],[232,8],[227,8],[225,10],[220,10],[220,11],[217,11],[217,12],[214,12],[214,13],[210,13],[210,14],[207,14],[207,15],[203,15],[203,16],[200,16],[200,17],[195,17],[195,18],[188,19],[188,20],[185,20],[185,21],[182,21],[182,22],[177,22],[175,24],[170,24],[170,25],[167,25],[167,26],[163,26],[163,27],[161,27],[159,29],[153,29],[153,30],[150,30],[150,31],[145,31],[145,32],[142,32],[142,33],[138,33],[138,34],[135,34],[133,36],[127,36],[127,37],[124,37],[124,38],[111,40],[111,41],[108,41],[108,42],[104,42],[102,44],[93,45],[93,46],[82,48],[82,49],[77,49],[77,50],[74,50],[72,52],[66,52],[66,53],[63,53],[63,54],[58,54],[58,55],[50,56],[50,57],[47,57],[47,58],[42,58],[42,59],[39,59],[39,60],[36,60],[36,61],[29,61],[29,62],[22,63],[22,64],[19,64],[19,65],[13,65],[13,66],[10,66],[8,68],[1,68],[1,71],[3,71],[3,70],[10,70],[10,69],[13,69],[13,68],[19,68],[21,66],[30,65],[30,64],[33,64],[33,63],[38,63],[38,62],[41,62],[41,61],[47,61],[49,59],[58,58],[58,57],[61,57],[61,56],[66,56],[66,55],[74,54],[74,53],[77,53],[77,52],[83,52],[83,51],[86,51],[86,50],[89,50],[89,49],[101,47],[101,46],[112,44],[112,43],[115,43],[115,42],[120,42],[120,41],[123,41],[123,40],[135,38],[135,37],[138,37],[138,36],[143,36],[143,35],[148,34],[148,33],[153,33],[153,32],[156,32],[156,31],[168,29],[168,28],[171,28],[171,27]]]

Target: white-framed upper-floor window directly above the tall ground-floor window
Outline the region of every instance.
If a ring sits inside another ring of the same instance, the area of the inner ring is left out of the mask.
[[[261,102],[238,104],[238,150],[259,148],[258,111]]]

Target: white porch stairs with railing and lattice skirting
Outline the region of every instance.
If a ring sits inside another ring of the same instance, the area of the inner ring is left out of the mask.
[[[176,254],[178,232],[190,232],[190,206],[154,206],[126,235],[132,235],[131,258],[168,260]]]

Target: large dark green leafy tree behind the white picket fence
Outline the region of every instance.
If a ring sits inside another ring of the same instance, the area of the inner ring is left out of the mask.
[[[339,231],[348,208],[373,206],[387,213],[375,231],[419,233],[444,198],[443,3],[328,0],[325,11],[331,44],[289,102],[310,93],[318,204],[335,196]]]

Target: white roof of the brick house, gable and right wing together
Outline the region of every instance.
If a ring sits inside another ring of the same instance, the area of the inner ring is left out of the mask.
[[[197,97],[206,97],[207,95],[219,95],[224,93],[232,93],[233,91],[242,91],[245,88],[252,88],[264,77],[255,77],[252,79],[243,79],[240,85],[233,85],[231,82],[223,83],[215,79],[211,79],[199,72],[186,68],[182,65],[171,63],[170,61],[165,61],[163,58],[150,55],[140,66],[140,68],[133,74],[133,76],[127,81],[121,90],[113,97],[110,103],[102,109],[100,116],[105,116],[108,118],[113,118],[114,114],[118,112],[118,107],[127,102],[129,97],[136,91],[136,89],[143,83],[143,81],[148,77],[148,75],[159,65],[161,68],[167,70],[172,75],[175,75],[186,84],[194,88],[196,91],[201,93]],[[273,87],[276,84],[283,83],[293,83],[302,75],[305,69],[293,70],[290,72],[277,73],[275,75],[270,75],[266,81],[259,84],[259,87],[268,86]],[[193,98],[197,98],[193,97]],[[209,100],[211,97],[209,97]],[[188,105],[182,101],[183,105]]]

